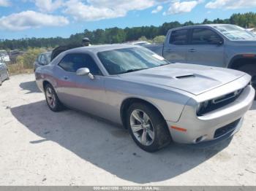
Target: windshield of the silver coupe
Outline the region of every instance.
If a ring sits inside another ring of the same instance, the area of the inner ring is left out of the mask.
[[[124,74],[169,64],[165,58],[143,47],[108,50],[99,52],[98,57],[111,75]]]

